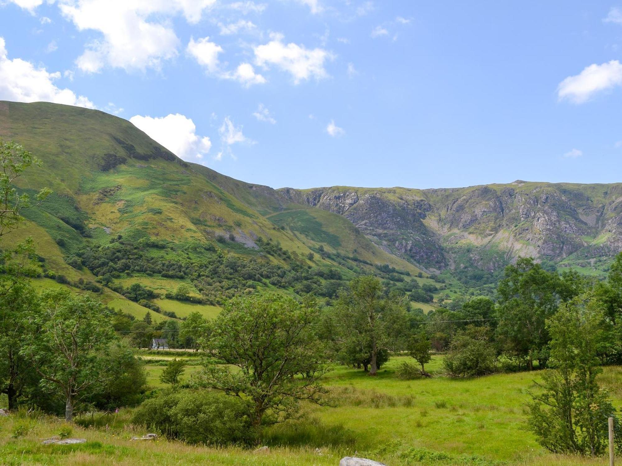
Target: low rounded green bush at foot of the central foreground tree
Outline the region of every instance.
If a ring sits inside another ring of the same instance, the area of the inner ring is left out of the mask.
[[[240,400],[211,391],[165,391],[137,408],[132,422],[189,444],[251,445],[256,433]]]

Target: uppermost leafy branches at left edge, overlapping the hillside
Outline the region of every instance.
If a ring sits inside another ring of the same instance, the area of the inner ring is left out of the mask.
[[[23,219],[22,209],[38,205],[52,193],[48,188],[39,191],[35,204],[28,194],[17,193],[15,180],[32,165],[40,167],[41,161],[16,142],[0,139],[0,236],[17,228]]]

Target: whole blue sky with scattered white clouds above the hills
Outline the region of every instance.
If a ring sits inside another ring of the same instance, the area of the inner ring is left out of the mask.
[[[269,185],[622,181],[622,0],[0,0],[0,99]]]

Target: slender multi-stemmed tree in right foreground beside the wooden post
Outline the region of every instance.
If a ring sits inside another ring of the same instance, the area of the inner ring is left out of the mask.
[[[593,296],[562,303],[547,319],[554,369],[542,375],[541,393],[532,395],[529,427],[555,453],[600,455],[608,442],[607,419],[616,418],[609,394],[596,381],[603,339],[603,309]],[[615,419],[620,442],[620,423]]]

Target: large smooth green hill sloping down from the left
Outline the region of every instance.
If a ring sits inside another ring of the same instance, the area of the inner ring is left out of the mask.
[[[213,315],[223,299],[256,289],[303,293],[356,273],[419,272],[343,217],[183,162],[104,112],[0,102],[0,137],[43,162],[19,189],[54,191],[2,247],[34,237],[41,280],[94,290],[137,317],[144,306],[159,308],[155,318],[183,317],[188,299]],[[192,290],[183,303],[172,298],[181,283]]]

